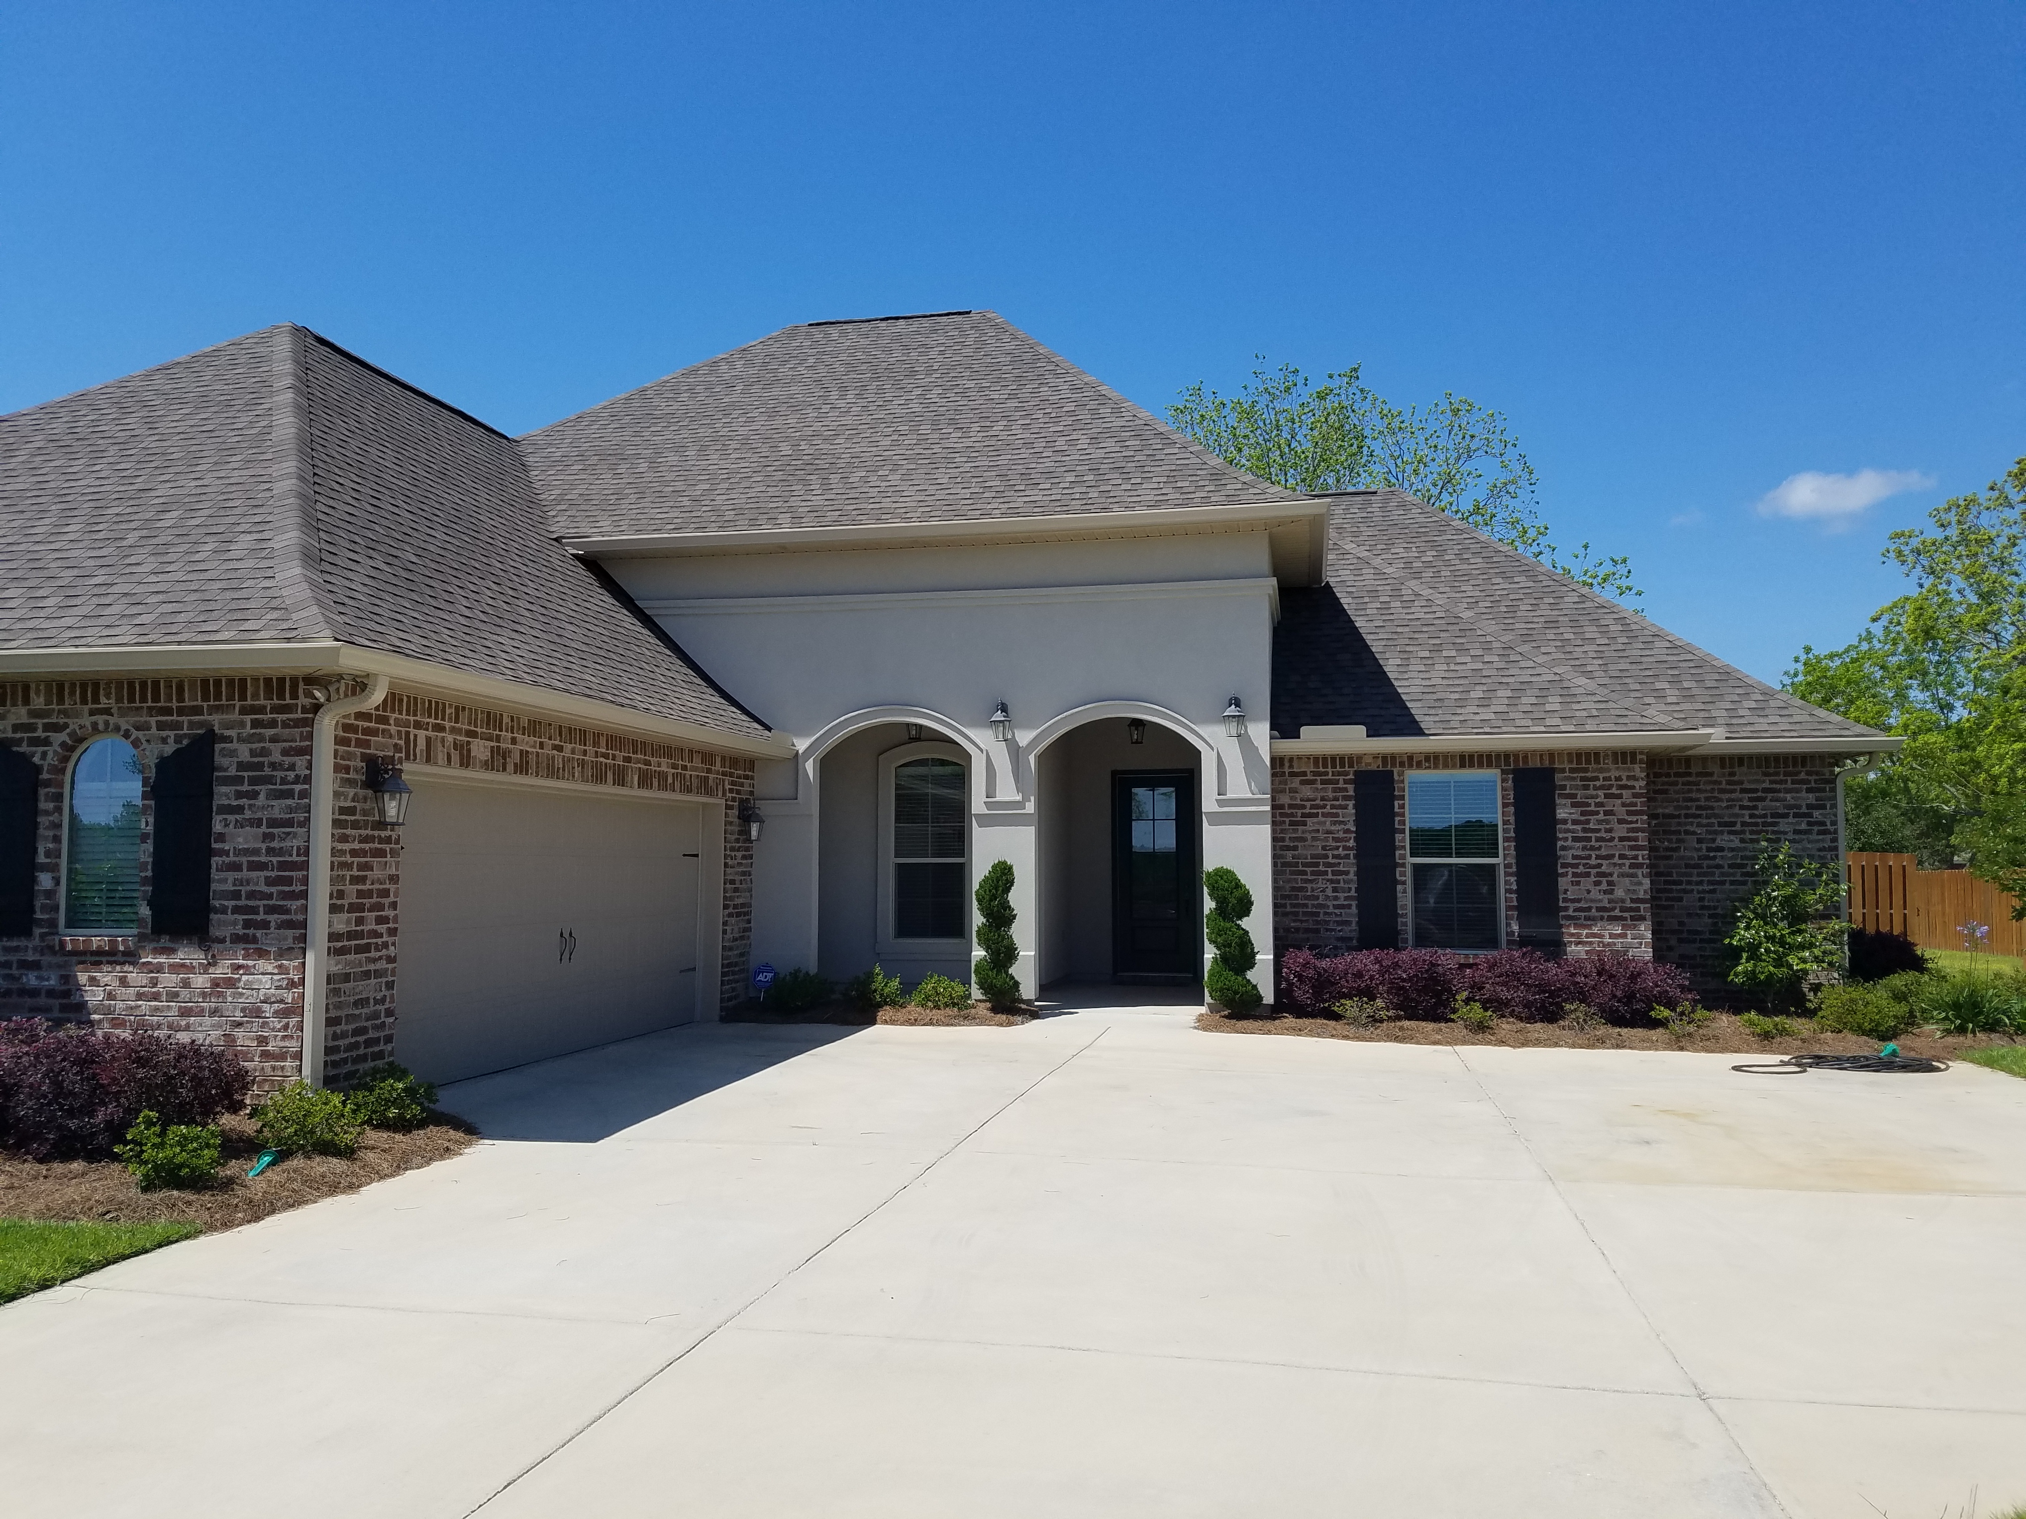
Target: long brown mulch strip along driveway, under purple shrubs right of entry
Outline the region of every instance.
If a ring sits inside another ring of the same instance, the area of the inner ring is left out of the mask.
[[[1515,1023],[1499,1019],[1487,1033],[1475,1033],[1461,1023],[1422,1023],[1418,1019],[1390,1019],[1366,1027],[1343,1023],[1341,1019],[1234,1019],[1226,1013],[1203,1013],[1195,1021],[1197,1029],[1210,1033],[1291,1033],[1301,1039],[1359,1039],[1372,1045],[1497,1045],[1503,1049],[1671,1049],[1700,1055],[1876,1055],[1878,1041],[1862,1039],[1854,1033],[1829,1033],[1813,1029],[1805,1019],[1795,1019],[1797,1033],[1791,1039],[1761,1039],[1738,1023],[1736,1013],[1716,1013],[1700,1029],[1680,1039],[1661,1027],[1619,1029],[1603,1025],[1599,1029],[1568,1029],[1560,1023]],[[1902,1055],[1923,1055],[1927,1059],[1957,1059],[1965,1049],[2000,1043],[1988,1035],[1937,1037],[1908,1033],[1894,1041]]]

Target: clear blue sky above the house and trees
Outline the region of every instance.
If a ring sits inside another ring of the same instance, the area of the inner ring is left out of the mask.
[[[2018,4],[0,12],[0,409],[278,320],[509,431],[827,316],[1361,363],[1767,678],[2026,454],[2022,249]]]

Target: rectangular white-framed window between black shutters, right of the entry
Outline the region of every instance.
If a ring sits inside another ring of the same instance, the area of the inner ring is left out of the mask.
[[[1499,891],[1495,772],[1408,776],[1406,857],[1416,948],[1499,948],[1505,897]]]

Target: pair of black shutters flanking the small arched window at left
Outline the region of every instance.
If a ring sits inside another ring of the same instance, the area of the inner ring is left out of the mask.
[[[154,887],[148,922],[156,934],[211,932],[211,776],[217,733],[199,733],[154,768]],[[0,938],[34,934],[34,760],[0,749]]]

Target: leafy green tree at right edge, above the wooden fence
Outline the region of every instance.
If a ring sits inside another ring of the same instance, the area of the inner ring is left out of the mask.
[[[1848,784],[1852,847],[1967,857],[2026,903],[2026,458],[1929,518],[1886,541],[1913,591],[1854,644],[1803,646],[1785,687],[1906,739]]]

